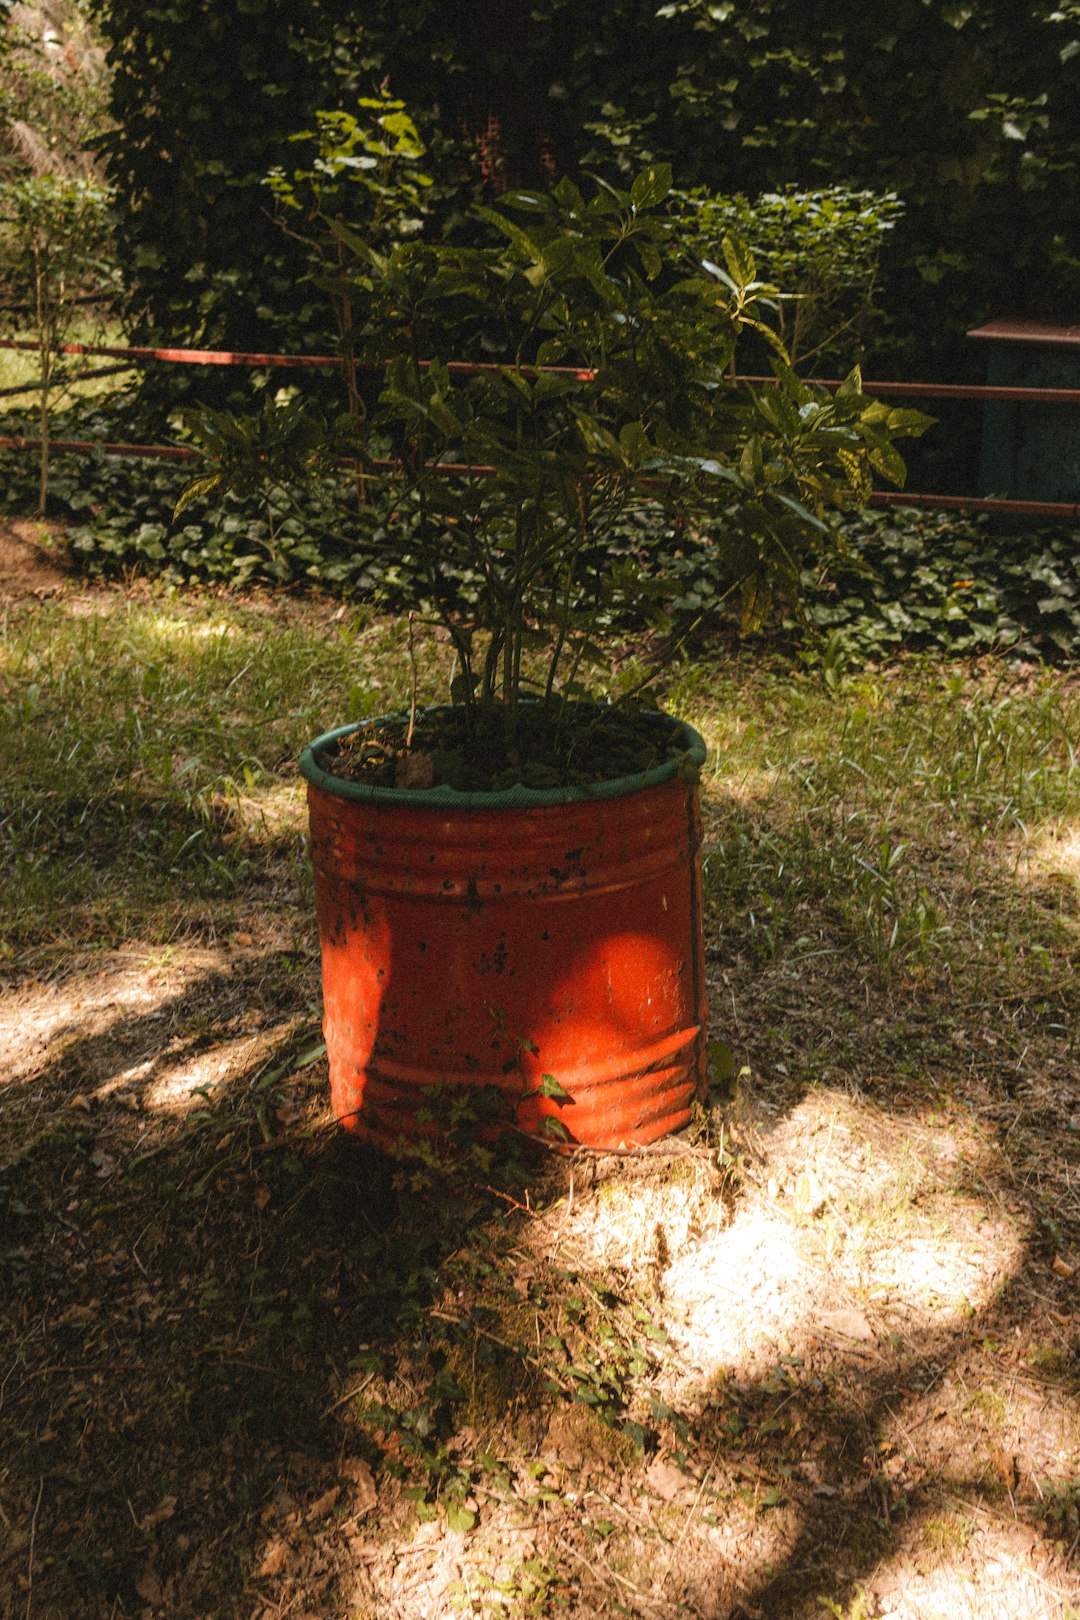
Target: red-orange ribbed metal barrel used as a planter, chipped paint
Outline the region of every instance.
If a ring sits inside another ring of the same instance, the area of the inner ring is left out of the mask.
[[[494,1098],[491,1129],[593,1149],[683,1126],[708,1072],[696,786],[369,787],[327,771],[351,729],[301,757],[342,1124],[389,1149]]]

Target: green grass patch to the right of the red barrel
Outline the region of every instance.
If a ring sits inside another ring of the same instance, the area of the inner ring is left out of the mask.
[[[714,744],[706,901],[725,949],[984,969],[988,883],[1009,972],[1038,975],[1064,943],[1061,917],[1004,880],[1080,807],[1080,697],[1062,679],[910,661],[827,688],[698,666],[670,697]]]

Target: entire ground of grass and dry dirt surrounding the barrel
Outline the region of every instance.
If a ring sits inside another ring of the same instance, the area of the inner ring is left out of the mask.
[[[295,758],[408,680],[330,603],[6,611],[0,1617],[1075,1617],[1070,677],[670,674],[738,1085],[539,1166],[327,1119]]]

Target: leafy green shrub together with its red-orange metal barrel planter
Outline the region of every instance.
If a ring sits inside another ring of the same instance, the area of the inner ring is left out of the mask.
[[[453,642],[449,705],[301,757],[332,1106],[382,1147],[436,1134],[447,1087],[500,1097],[491,1131],[542,1140],[688,1123],[708,1084],[704,745],[640,695],[583,688],[612,616],[662,611],[664,582],[612,564],[612,539],[659,510],[758,625],[777,583],[797,595],[842,548],[836,515],[873,471],[902,480],[894,439],[925,424],[857,374],[836,397],[800,382],[774,288],[732,240],[724,264],[685,258],[669,190],[656,165],[630,191],[513,193],[478,211],[473,248],[377,253],[335,220],[356,271],[327,287],[371,399],[338,423],[291,407],[282,434],[194,423],[214,462],[198,492],[359,465],[419,559],[416,611]],[[730,381],[748,330],[774,353],[758,392]]]

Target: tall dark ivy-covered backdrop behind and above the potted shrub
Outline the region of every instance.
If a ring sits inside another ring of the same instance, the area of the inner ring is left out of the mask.
[[[648,157],[724,193],[897,193],[882,366],[955,371],[975,321],[1075,309],[1075,0],[369,0],[359,23],[343,0],[97,10],[125,258],[173,337],[256,347],[303,316],[262,177],[317,109],[351,112],[384,78],[429,144],[439,131],[439,228],[471,185],[445,143],[471,141],[495,183]]]

